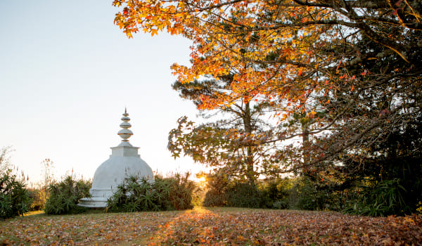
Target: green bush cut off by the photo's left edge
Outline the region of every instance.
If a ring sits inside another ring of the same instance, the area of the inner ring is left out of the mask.
[[[31,198],[24,179],[18,179],[8,169],[0,176],[0,219],[19,216],[28,212]]]

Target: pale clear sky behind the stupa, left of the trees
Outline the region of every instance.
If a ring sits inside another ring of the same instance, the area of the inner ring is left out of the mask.
[[[124,107],[129,140],[153,170],[200,170],[167,150],[177,119],[196,115],[171,88],[170,65],[188,65],[191,42],[162,33],[127,39],[111,4],[0,0],[0,148],[12,145],[12,163],[32,182],[45,158],[56,178],[72,169],[92,178],[120,143]]]

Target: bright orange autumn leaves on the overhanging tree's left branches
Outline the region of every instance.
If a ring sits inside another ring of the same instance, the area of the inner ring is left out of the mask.
[[[193,40],[191,67],[172,65],[180,82],[236,74],[229,93],[203,96],[201,110],[230,105],[245,95],[303,103],[309,89],[306,75],[323,61],[313,46],[326,28],[306,23],[332,15],[321,8],[275,1],[116,0],[114,5],[124,6],[115,22],[129,38],[139,30],[151,35],[159,30]],[[295,77],[302,82],[296,83]]]

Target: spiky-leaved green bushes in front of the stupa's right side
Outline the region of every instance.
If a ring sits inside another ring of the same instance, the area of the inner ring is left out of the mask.
[[[189,174],[174,174],[170,178],[155,176],[153,182],[136,175],[128,176],[108,199],[107,210],[138,212],[191,209],[196,184],[188,176]]]

